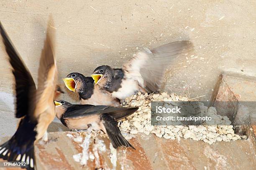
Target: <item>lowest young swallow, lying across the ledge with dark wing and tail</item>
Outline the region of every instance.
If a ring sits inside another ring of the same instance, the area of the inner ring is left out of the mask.
[[[70,130],[102,130],[108,135],[114,148],[133,146],[121,134],[117,120],[138,110],[138,107],[112,107],[104,105],[73,105],[64,100],[54,101],[56,116]],[[134,148],[133,148],[134,149]]]

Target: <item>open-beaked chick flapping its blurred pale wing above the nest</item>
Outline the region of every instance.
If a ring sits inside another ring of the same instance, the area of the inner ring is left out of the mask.
[[[91,76],[95,84],[120,100],[139,91],[159,92],[164,71],[177,64],[177,58],[191,49],[192,44],[189,41],[171,42],[152,50],[143,48],[136,52],[122,69],[102,65],[97,67]]]

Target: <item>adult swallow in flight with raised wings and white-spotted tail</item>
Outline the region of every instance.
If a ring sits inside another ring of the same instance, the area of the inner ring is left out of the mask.
[[[46,130],[55,117],[54,96],[59,93],[56,87],[57,69],[49,29],[48,27],[41,53],[36,89],[31,73],[0,23],[0,33],[15,77],[15,117],[20,118],[15,134],[0,145],[0,158],[8,161],[24,161],[29,170],[36,168],[34,142],[41,138],[47,140]]]

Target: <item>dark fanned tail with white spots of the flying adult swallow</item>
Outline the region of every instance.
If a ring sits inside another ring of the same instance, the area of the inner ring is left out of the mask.
[[[18,148],[16,143],[13,143],[10,139],[0,146],[0,158],[7,161],[21,161],[26,162],[27,170],[34,170],[36,165],[36,160],[34,156],[34,147],[27,146],[29,148]],[[26,152],[21,153],[20,150],[26,150]]]

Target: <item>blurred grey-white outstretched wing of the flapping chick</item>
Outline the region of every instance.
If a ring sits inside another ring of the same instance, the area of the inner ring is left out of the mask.
[[[156,47],[152,50],[144,48],[133,55],[123,65],[130,78],[148,91],[158,92],[167,68],[177,64],[177,58],[192,49],[190,41],[176,41]]]

